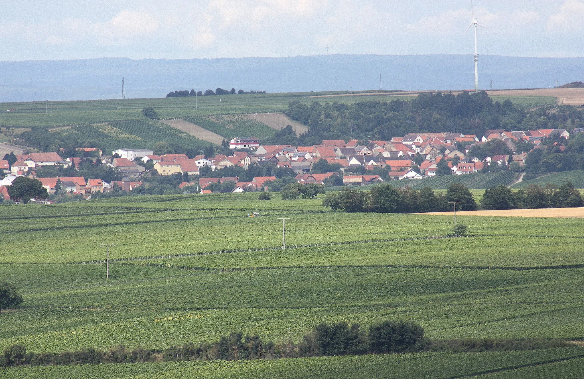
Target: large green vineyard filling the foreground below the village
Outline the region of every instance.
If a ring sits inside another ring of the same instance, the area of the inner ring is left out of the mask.
[[[430,339],[584,339],[584,219],[467,216],[459,222],[472,236],[435,238],[451,217],[335,213],[321,201],[251,193],[0,206],[0,278],[26,299],[0,315],[0,348],[166,348],[231,331],[298,342],[321,321],[381,320],[415,321]],[[290,218],[285,251],[279,217]],[[102,243],[115,244],[109,280]],[[25,367],[3,377],[567,378],[583,356],[571,348]]]

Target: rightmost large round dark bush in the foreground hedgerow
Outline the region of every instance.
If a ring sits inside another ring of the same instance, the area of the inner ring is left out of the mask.
[[[369,327],[367,342],[371,353],[405,353],[423,348],[423,336],[413,322],[385,321]]]

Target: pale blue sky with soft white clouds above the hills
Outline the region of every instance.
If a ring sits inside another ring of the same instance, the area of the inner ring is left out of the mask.
[[[470,0],[4,2],[0,61],[472,54]],[[476,0],[479,54],[582,57],[584,0]]]

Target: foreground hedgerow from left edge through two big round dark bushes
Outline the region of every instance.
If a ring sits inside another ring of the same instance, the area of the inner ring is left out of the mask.
[[[200,345],[190,342],[162,350],[126,350],[118,346],[106,352],[88,348],[76,352],[33,353],[25,345],[12,345],[0,355],[0,367],[405,353],[425,349],[426,345],[424,329],[413,322],[385,321],[366,329],[359,324],[336,322],[318,324],[297,344],[262,341],[258,335],[233,332],[215,342]]]

